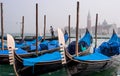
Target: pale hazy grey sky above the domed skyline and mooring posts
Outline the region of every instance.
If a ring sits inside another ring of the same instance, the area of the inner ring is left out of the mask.
[[[21,19],[25,17],[25,32],[35,33],[35,5],[39,6],[39,32],[43,33],[44,15],[47,17],[47,29],[53,26],[63,28],[68,25],[71,15],[71,26],[76,26],[76,4],[78,0],[0,0],[3,3],[5,33],[19,33]],[[80,25],[86,27],[88,11],[91,14],[92,26],[98,13],[99,22],[104,19],[108,23],[120,26],[120,0],[79,0]],[[1,22],[0,22],[1,23]],[[1,30],[1,29],[0,29]]]

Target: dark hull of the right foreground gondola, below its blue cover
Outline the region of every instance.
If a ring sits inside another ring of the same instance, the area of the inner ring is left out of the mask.
[[[67,70],[70,76],[80,75],[88,75],[92,72],[102,71],[108,69],[112,65],[112,60],[106,61],[79,61],[75,59],[71,59],[69,56],[66,56]]]

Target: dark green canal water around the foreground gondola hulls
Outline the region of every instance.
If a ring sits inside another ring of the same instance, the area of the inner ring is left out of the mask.
[[[97,43],[98,46],[103,41],[107,41],[107,39],[99,39]],[[93,47],[94,47],[94,43],[95,42],[93,42]],[[91,52],[92,52],[92,49],[91,49]],[[9,64],[0,65],[0,76],[15,76],[13,66]],[[40,75],[40,76],[68,76],[68,75],[67,75],[67,71],[65,70],[65,68],[63,68],[59,71],[47,73],[47,74]],[[81,76],[81,74],[78,74],[77,76]],[[120,76],[120,56],[114,59],[113,67],[107,70],[104,70],[104,71],[90,73],[86,76]]]

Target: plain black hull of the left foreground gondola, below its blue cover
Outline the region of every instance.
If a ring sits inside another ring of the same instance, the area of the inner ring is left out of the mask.
[[[15,55],[15,68],[19,76],[37,76],[49,72],[54,72],[63,68],[60,61],[44,62],[35,64],[35,66],[24,66],[23,61]]]

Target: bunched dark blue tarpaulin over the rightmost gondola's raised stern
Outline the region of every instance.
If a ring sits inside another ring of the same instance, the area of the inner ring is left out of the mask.
[[[114,56],[120,54],[120,38],[116,33],[113,33],[108,42],[103,42],[95,52],[102,53],[106,56]]]

